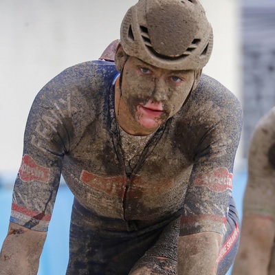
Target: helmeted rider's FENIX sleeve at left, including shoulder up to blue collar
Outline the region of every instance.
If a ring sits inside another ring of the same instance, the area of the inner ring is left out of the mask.
[[[66,157],[102,112],[98,100],[104,100],[115,74],[113,63],[87,61],[65,69],[41,89],[25,126],[10,221],[47,231]]]

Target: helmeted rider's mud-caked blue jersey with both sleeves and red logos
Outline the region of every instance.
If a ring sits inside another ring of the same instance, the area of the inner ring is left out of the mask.
[[[61,174],[95,228],[134,231],[181,216],[181,234],[225,228],[241,107],[201,76],[183,107],[126,158],[114,63],[65,69],[36,96],[25,127],[11,221],[46,231]]]

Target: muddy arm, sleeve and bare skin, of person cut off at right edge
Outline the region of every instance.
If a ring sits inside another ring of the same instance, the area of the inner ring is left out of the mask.
[[[275,238],[275,109],[257,124],[248,155],[241,242],[234,275],[267,275]]]

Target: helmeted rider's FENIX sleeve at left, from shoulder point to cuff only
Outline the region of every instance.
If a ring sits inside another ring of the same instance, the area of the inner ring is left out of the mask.
[[[36,96],[25,126],[23,157],[14,184],[10,221],[47,231],[58,190],[63,157],[73,140],[72,98],[67,72]]]

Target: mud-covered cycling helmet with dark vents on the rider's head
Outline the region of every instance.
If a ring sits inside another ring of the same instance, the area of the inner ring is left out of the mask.
[[[208,63],[212,27],[198,0],[139,0],[120,28],[126,54],[173,70],[199,70]]]

